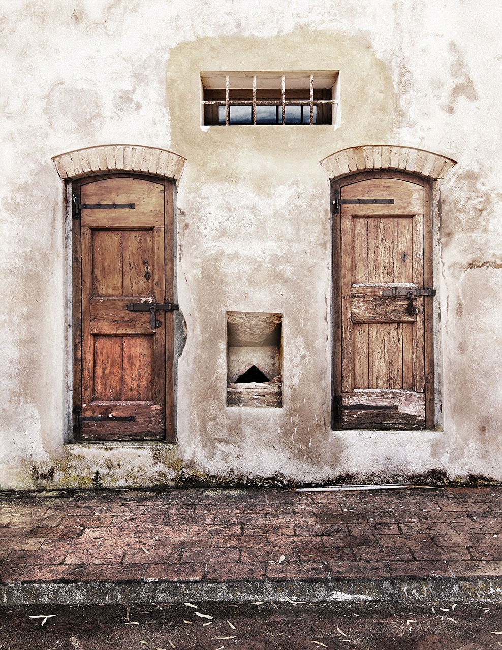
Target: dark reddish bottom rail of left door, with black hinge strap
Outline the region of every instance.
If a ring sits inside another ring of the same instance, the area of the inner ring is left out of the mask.
[[[165,435],[165,413],[161,404],[153,402],[108,402],[99,400],[83,404],[82,417],[103,416],[103,422],[82,421],[84,440],[127,440],[131,438],[160,440]],[[133,421],[107,421],[107,417],[133,417]]]

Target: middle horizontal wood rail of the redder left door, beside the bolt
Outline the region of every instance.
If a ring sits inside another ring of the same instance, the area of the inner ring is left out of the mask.
[[[90,301],[90,332],[92,334],[152,334],[150,311],[129,311],[130,298],[93,298]],[[147,304],[150,300],[144,304]],[[153,300],[152,300],[153,302]]]

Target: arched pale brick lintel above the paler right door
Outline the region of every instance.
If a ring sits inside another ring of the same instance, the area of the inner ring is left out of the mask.
[[[456,161],[432,151],[388,144],[341,149],[321,161],[330,179],[372,169],[397,169],[437,181],[455,165]]]

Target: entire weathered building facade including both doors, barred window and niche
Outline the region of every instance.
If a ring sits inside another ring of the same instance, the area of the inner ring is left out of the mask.
[[[2,488],[502,480],[498,3],[2,14]]]

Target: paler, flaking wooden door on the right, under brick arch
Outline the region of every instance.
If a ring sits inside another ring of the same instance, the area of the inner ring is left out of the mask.
[[[432,229],[427,181],[334,185],[334,425],[432,426]]]

